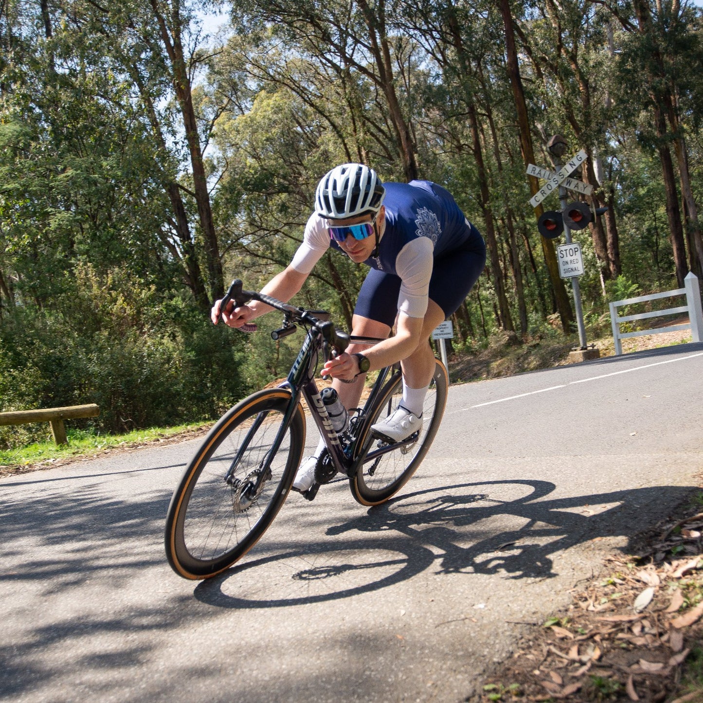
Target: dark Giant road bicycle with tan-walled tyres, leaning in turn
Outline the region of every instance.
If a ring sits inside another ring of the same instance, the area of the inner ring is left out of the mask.
[[[315,483],[303,496],[314,499],[321,485],[338,477],[349,480],[361,505],[380,505],[410,479],[430,449],[444,414],[449,380],[435,359],[423,407],[423,427],[403,441],[375,434],[371,425],[392,415],[402,397],[400,364],[382,368],[363,408],[351,413],[344,432],[333,429],[315,378],[320,357],[341,354],[350,342],[381,340],[349,337],[335,329],[323,311],[305,310],[263,293],[242,290],[234,280],[221,309],[233,300],[252,300],[283,312],[274,340],[306,335],[288,378],[276,388],[250,395],[212,427],[186,467],[171,498],[165,546],[169,564],[186,579],[207,579],[224,571],[264,534],[290,492],[305,446],[305,400],[325,441]]]

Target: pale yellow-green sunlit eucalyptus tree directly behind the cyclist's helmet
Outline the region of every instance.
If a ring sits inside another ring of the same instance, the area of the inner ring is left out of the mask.
[[[347,82],[277,49],[270,39],[233,37],[209,89],[237,105],[224,113],[215,133],[226,163],[214,200],[223,256],[226,266],[247,266],[264,278],[286,266],[302,242],[316,182],[330,163],[362,159],[380,148],[378,134],[365,137],[360,129],[364,120],[378,123],[378,115],[374,120],[373,108],[366,117],[355,112]],[[335,307],[351,325],[358,267],[328,252],[311,278],[306,292],[314,289],[329,299],[336,291]],[[328,288],[316,288],[316,281]]]

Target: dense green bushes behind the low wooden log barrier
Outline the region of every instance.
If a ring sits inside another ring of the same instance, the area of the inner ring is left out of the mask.
[[[63,309],[18,308],[4,318],[0,411],[96,403],[101,415],[77,426],[125,432],[214,418],[243,396],[231,330],[122,271],[77,273]],[[0,446],[47,432],[4,427]]]

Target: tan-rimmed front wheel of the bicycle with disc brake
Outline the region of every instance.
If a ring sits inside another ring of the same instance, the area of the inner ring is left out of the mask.
[[[166,556],[176,574],[207,579],[257,543],[288,496],[305,441],[300,404],[288,427],[287,389],[254,393],[207,434],[169,505]]]

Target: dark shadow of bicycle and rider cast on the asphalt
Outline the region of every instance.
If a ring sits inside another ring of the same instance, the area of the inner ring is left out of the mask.
[[[553,579],[557,553],[609,537],[631,541],[696,490],[654,486],[546,499],[555,489],[520,479],[415,491],[325,530],[349,540],[267,544],[264,556],[200,583],[195,597],[229,608],[301,605],[377,591],[432,568],[439,578]]]

